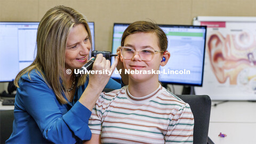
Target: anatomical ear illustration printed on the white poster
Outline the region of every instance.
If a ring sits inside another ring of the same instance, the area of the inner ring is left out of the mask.
[[[252,84],[256,90],[256,37],[250,32],[239,31],[224,37],[212,33],[207,38],[206,51],[215,77],[219,83],[231,85]]]

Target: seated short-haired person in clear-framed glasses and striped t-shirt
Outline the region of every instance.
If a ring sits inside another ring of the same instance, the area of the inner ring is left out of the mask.
[[[158,82],[157,70],[170,58],[166,49],[167,37],[154,23],[137,21],[127,27],[121,61],[130,71],[129,85],[100,95],[87,143],[193,143],[194,117],[188,103]]]

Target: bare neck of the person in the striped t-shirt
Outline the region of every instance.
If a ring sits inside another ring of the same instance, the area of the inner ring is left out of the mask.
[[[158,78],[153,82],[134,82],[129,79],[128,90],[133,97],[144,97],[159,87]]]

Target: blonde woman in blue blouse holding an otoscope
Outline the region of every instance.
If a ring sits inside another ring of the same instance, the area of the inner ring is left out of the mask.
[[[46,12],[38,26],[34,62],[15,78],[13,132],[6,143],[76,143],[89,140],[91,110],[106,86],[121,85],[110,76],[77,78],[89,57],[91,33],[81,13],[65,6]],[[113,70],[109,60],[97,55],[93,70]],[[70,74],[71,70],[71,74]]]

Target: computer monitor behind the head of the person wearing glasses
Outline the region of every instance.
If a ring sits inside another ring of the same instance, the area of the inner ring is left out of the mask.
[[[127,23],[114,23],[112,52],[121,45]],[[205,26],[159,25],[168,38],[167,51],[171,57],[164,67],[160,67],[159,81],[166,84],[202,86],[205,53]],[[111,59],[114,62],[114,58]],[[120,79],[118,73],[111,76]]]

